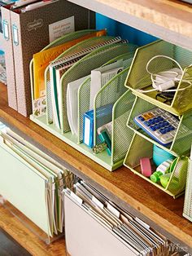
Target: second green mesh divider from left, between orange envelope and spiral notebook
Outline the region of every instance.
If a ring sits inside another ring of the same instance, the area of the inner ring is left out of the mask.
[[[86,30],[85,30],[86,31]],[[95,31],[95,30],[94,30]],[[89,33],[93,32],[93,30],[89,30]],[[81,36],[84,36],[84,34],[82,34]],[[77,37],[79,38],[80,35]],[[73,38],[76,39],[76,38]],[[104,43],[108,40],[113,40],[114,37],[97,37],[97,38],[89,38],[86,39],[82,42],[77,43],[75,46],[70,47],[68,50],[64,51],[61,55],[59,55],[55,60],[55,61],[59,61],[60,59],[66,58],[69,55],[75,55],[77,52],[82,52],[85,51],[86,48],[88,47],[93,47],[98,45],[99,43]],[[75,58],[75,56],[74,56]],[[45,81],[46,81],[46,102],[47,102],[47,121],[48,123],[53,122],[53,108],[52,108],[52,99],[51,99],[51,91],[50,91],[50,68],[46,68],[46,72],[45,72]],[[72,80],[74,81],[74,80]],[[70,82],[72,82],[70,81]]]

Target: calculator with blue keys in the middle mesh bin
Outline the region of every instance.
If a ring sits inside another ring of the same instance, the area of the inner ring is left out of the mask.
[[[179,126],[179,120],[161,108],[153,108],[142,113],[134,117],[134,121],[137,126],[162,145],[172,142]],[[181,125],[179,135],[184,137],[189,131],[186,126]]]

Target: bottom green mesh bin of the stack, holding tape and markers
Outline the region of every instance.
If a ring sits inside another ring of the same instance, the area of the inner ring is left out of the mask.
[[[140,159],[148,157],[151,159],[152,170],[155,171],[156,167],[152,161],[153,157],[153,143],[144,139],[140,135],[135,134],[133,140],[130,143],[129,150],[124,158],[124,166],[133,171],[134,174],[139,175],[142,179],[155,185],[164,192],[168,193],[174,198],[181,196],[185,191],[186,175],[188,168],[188,157],[177,157],[175,160],[175,166],[173,167],[170,179],[164,188],[160,183],[153,183],[150,178],[142,175]]]

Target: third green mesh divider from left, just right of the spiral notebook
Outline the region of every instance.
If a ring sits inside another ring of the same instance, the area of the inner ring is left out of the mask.
[[[70,130],[68,124],[67,116],[67,86],[68,82],[72,82],[80,77],[85,77],[89,75],[91,70],[98,68],[105,64],[107,61],[115,58],[118,55],[122,55],[125,52],[129,51],[129,44],[127,43],[118,43],[115,45],[103,46],[98,50],[91,52],[89,55],[85,55],[84,58],[72,65],[72,68],[69,68],[66,73],[63,74],[61,78],[61,87],[62,87],[62,113],[61,113],[61,127],[62,132],[67,132]],[[83,100],[83,99],[81,99]]]

